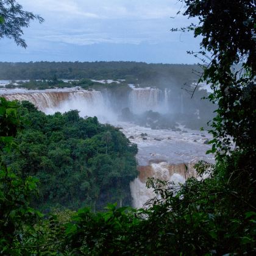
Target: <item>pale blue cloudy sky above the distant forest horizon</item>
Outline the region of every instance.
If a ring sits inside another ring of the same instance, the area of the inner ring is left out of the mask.
[[[197,63],[200,38],[171,32],[194,20],[178,0],[17,0],[44,18],[24,29],[27,48],[0,40],[1,62],[137,61]],[[181,9],[182,11],[183,9]]]

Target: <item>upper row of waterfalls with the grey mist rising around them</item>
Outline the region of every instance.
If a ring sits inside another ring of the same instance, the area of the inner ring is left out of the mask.
[[[77,87],[65,91],[7,90],[4,93],[7,99],[30,101],[48,114],[78,110],[82,117],[97,116],[101,123],[113,125],[123,121],[151,129],[177,130],[179,124],[199,129],[213,117],[215,105],[201,99],[208,96],[203,87],[191,98],[191,94],[177,84],[165,84],[165,79],[160,88],[140,84],[116,88],[116,82],[105,82],[101,87],[88,90]]]

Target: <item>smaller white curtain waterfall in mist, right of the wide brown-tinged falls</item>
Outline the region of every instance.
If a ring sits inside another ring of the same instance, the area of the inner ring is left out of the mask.
[[[133,88],[129,94],[129,108],[133,113],[148,110],[166,113],[169,110],[169,90]]]

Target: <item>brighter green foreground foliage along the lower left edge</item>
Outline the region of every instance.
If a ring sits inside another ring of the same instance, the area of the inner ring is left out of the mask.
[[[30,207],[30,198],[37,192],[37,179],[22,179],[10,169],[4,156],[16,150],[13,140],[21,127],[17,102],[0,98],[0,253],[12,254],[13,247],[21,244],[18,239],[25,225],[32,224],[38,212]]]

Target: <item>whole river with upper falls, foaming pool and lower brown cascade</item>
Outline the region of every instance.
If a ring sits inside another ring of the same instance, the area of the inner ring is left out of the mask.
[[[207,132],[193,130],[180,123],[186,111],[183,96],[172,94],[168,88],[133,88],[130,86],[120,99],[109,90],[81,90],[64,88],[52,90],[23,90],[2,88],[0,94],[8,100],[30,101],[39,110],[52,114],[79,110],[80,116],[97,116],[101,123],[119,127],[132,143],[138,145],[139,176],[130,183],[133,207],[143,207],[154,194],[146,188],[148,177],[183,183],[196,177],[193,164],[198,160],[213,162]],[[144,114],[144,113],[147,113]],[[143,116],[144,115],[144,116]],[[170,127],[159,122],[162,116],[176,116]],[[199,110],[193,118],[200,119]],[[144,123],[138,123],[143,116]],[[177,118],[178,116],[178,118]],[[188,173],[185,171],[188,166]]]

